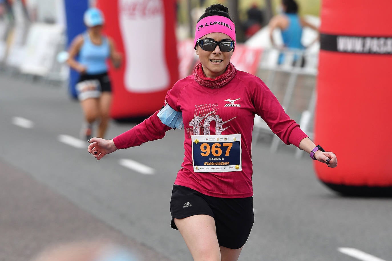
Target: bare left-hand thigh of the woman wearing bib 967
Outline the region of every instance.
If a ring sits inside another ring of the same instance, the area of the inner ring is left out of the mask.
[[[181,236],[194,261],[220,261],[220,247],[216,238],[215,220],[209,215],[174,218]]]

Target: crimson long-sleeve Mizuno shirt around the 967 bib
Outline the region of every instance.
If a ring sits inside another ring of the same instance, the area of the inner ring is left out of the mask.
[[[201,86],[194,81],[194,76],[188,76],[167,92],[165,102],[182,113],[184,123],[185,157],[174,184],[209,196],[245,198],[253,195],[251,140],[255,114],[260,115],[285,144],[298,147],[299,142],[308,137],[285,113],[265,83],[242,71],[221,88]],[[162,139],[171,128],[160,121],[157,113],[115,137],[116,147],[129,148]],[[192,161],[192,135],[229,134],[240,134],[241,170],[196,172]]]

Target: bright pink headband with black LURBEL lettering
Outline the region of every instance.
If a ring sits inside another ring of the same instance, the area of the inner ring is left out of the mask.
[[[236,28],[234,23],[224,16],[213,15],[201,19],[196,25],[195,39],[193,47],[196,47],[196,41],[211,32],[222,32],[236,41]]]

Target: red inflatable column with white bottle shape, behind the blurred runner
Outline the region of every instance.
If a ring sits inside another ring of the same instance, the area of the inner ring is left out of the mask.
[[[174,0],[98,0],[105,33],[123,54],[120,69],[110,68],[111,117],[132,119],[159,110],[178,80]]]

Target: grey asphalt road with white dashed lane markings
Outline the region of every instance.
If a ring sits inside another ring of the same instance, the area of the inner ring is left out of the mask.
[[[96,161],[77,140],[82,114],[65,88],[0,75],[0,89],[0,260],[25,261],[53,243],[95,238],[140,260],[192,260],[170,227],[180,130]],[[107,138],[133,125],[111,122]],[[255,223],[240,260],[392,260],[391,199],[333,193],[294,149],[281,145],[271,154],[268,141],[252,149]],[[145,173],[123,166],[126,160]]]

